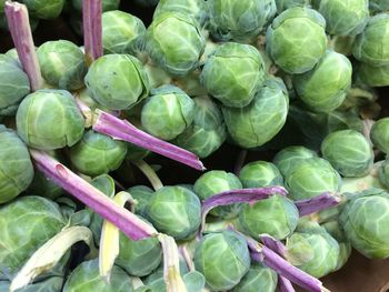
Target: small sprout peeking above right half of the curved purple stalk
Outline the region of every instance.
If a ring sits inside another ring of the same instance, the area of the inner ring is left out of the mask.
[[[277,167],[267,161],[253,161],[246,164],[239,173],[243,188],[263,188],[283,185],[283,178]]]

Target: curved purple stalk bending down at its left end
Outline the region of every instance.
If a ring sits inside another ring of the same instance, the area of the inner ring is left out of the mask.
[[[272,194],[287,195],[287,190],[282,187],[266,187],[230,190],[215,194],[202,202],[201,207],[201,231],[206,226],[206,218],[209,211],[219,205],[233,203],[255,203],[258,200],[268,199]]]

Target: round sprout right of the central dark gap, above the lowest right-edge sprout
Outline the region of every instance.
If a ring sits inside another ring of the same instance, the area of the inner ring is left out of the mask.
[[[370,171],[375,153],[369,141],[355,130],[330,133],[321,143],[322,157],[343,177],[363,177]]]

